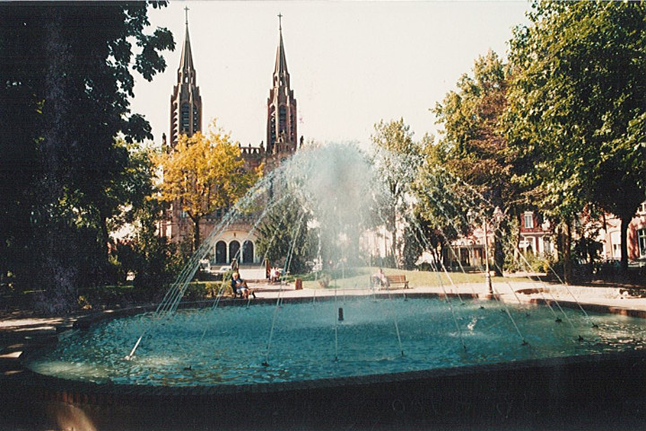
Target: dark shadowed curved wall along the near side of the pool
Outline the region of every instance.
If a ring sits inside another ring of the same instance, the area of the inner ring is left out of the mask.
[[[368,427],[374,418],[397,428],[534,423],[581,407],[616,409],[646,394],[643,351],[240,386],[141,387],[27,373],[11,384],[17,400],[35,414],[71,409],[96,429],[180,429],[189,419],[256,429]],[[231,406],[251,410],[240,416]]]

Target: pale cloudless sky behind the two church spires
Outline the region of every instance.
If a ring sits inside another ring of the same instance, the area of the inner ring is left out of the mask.
[[[527,1],[171,1],[149,9],[153,28],[173,32],[167,69],[147,83],[135,74],[132,110],[169,135],[185,13],[203,128],[212,119],[242,145],[266,140],[266,100],[278,45],[278,13],[298,133],[318,142],[366,144],[380,119],[403,117],[415,138],[437,134],[430,108],[455,89],[476,57],[506,57],[511,30],[527,23]]]

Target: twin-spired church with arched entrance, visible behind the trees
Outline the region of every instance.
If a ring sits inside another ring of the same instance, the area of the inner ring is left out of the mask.
[[[278,15],[279,18],[282,15]],[[240,157],[247,169],[255,169],[261,164],[265,172],[275,169],[286,157],[289,157],[302,145],[297,135],[297,104],[290,84],[287,59],[284,52],[283,27],[279,22],[279,40],[276,49],[272,87],[269,90],[266,110],[266,145],[240,146]],[[179,61],[178,81],[170,96],[170,142],[163,136],[162,146],[173,151],[180,135],[192,136],[202,130],[202,98],[196,80],[196,69],[193,64],[188,19],[184,44]],[[300,143],[300,145],[299,145]],[[168,208],[160,223],[160,234],[171,242],[189,241],[193,235],[193,222],[181,210],[179,202]],[[214,227],[222,220],[228,208],[219,208],[200,222],[202,240],[208,237]],[[210,259],[213,264],[225,265],[236,259],[241,265],[259,264],[256,242],[258,237],[252,232],[253,217],[248,220],[236,220],[214,238],[214,250]]]

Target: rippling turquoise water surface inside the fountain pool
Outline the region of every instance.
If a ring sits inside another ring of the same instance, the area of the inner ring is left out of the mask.
[[[88,382],[235,385],[390,374],[646,346],[646,322],[641,319],[592,313],[587,318],[580,310],[564,310],[564,317],[555,309],[563,321],[556,323],[547,307],[511,306],[516,330],[500,303],[485,302],[484,310],[479,305],[453,300],[452,313],[448,303],[437,298],[345,297],[336,303],[285,303],[280,308],[255,304],[182,311],[152,326],[151,316],[144,314],[76,331],[56,347],[31,356],[27,365],[40,374]],[[344,321],[338,321],[339,307],[344,309]],[[125,359],[149,326],[135,357]],[[523,340],[528,345],[522,345]]]

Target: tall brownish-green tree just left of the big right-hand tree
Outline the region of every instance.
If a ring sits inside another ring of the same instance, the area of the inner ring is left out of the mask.
[[[482,216],[480,223],[489,223],[493,209],[500,207],[503,212],[515,211],[514,203],[519,190],[511,181],[512,165],[506,138],[502,135],[500,120],[507,101],[509,69],[502,60],[489,51],[485,57],[476,59],[473,76],[462,75],[458,90],[447,93],[444,100],[433,110],[438,122],[444,126],[441,140],[446,152],[443,165],[465,186],[462,195],[477,195],[471,200],[480,202],[483,208],[474,208],[467,203],[468,210]],[[460,193],[458,193],[460,194]],[[460,199],[453,205],[460,205]],[[502,233],[508,233],[507,224],[501,224]],[[500,236],[494,239],[494,270],[502,275],[504,252]]]

